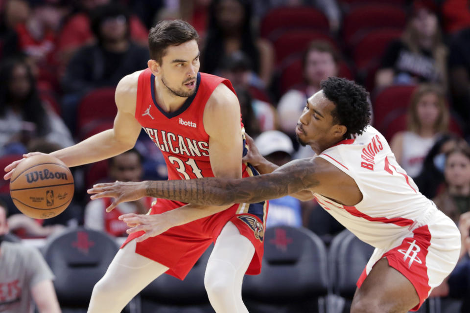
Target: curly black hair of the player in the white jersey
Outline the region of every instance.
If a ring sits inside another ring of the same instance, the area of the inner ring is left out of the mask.
[[[320,86],[328,100],[336,105],[331,111],[333,120],[347,128],[344,137],[362,134],[371,121],[369,92],[353,81],[338,77],[329,77]]]

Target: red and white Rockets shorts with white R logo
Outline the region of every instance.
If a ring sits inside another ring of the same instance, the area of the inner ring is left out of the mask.
[[[375,249],[362,272],[360,288],[376,262],[387,258],[388,265],[397,269],[415,287],[420,303],[411,311],[418,311],[433,288],[439,286],[457,264],[460,254],[460,232],[441,211],[430,221],[393,242],[387,249]]]

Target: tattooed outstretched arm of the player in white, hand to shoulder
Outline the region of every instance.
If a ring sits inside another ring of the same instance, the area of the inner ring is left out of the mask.
[[[96,184],[92,199],[115,198],[113,205],[141,197],[157,197],[201,205],[257,203],[312,190],[328,173],[315,158],[291,161],[274,172],[244,179],[201,178]]]

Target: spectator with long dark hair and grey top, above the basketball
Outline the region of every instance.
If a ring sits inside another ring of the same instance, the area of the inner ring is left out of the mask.
[[[44,137],[61,147],[73,144],[60,117],[43,105],[24,59],[1,63],[0,104],[0,154],[24,153],[34,137]]]

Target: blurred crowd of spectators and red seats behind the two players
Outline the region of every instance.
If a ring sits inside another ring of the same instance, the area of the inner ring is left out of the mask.
[[[0,167],[112,128],[118,81],[147,67],[148,29],[176,18],[196,28],[200,71],[231,80],[246,133],[274,163],[313,156],[294,128],[323,79],[365,86],[372,125],[420,191],[459,224],[470,250],[469,0],[0,0]],[[13,234],[46,238],[84,225],[123,236],[117,217],[146,213],[151,199],[105,214],[108,200],[90,201],[86,189],[166,179],[144,133],[134,149],[72,171],[74,201],[48,220],[18,214],[0,181]],[[278,225],[308,228],[326,246],[344,229],[315,201],[291,197],[271,201],[267,226]],[[470,277],[466,266],[458,277]],[[456,297],[468,298],[467,278],[455,283]],[[448,294],[447,282],[435,293]]]

